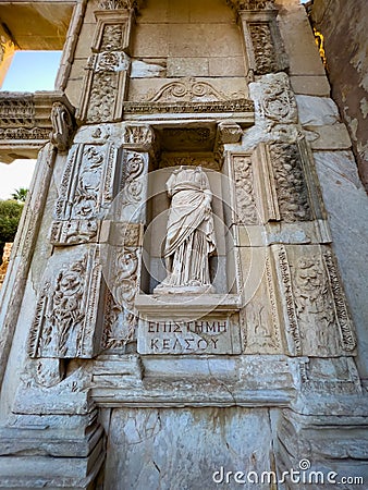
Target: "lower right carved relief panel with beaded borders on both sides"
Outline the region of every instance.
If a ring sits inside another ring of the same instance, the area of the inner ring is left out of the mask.
[[[331,250],[280,246],[278,260],[286,332],[295,353],[319,357],[352,353],[355,335]]]

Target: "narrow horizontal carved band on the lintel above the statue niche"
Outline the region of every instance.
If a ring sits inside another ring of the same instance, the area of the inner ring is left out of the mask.
[[[131,102],[125,101],[124,113],[206,113],[206,112],[254,112],[254,102],[247,99],[200,102]]]

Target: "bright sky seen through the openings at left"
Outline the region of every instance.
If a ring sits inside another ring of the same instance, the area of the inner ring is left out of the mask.
[[[61,51],[16,51],[1,87],[9,91],[53,90]],[[0,199],[10,198],[15,188],[29,187],[35,160],[0,162]]]

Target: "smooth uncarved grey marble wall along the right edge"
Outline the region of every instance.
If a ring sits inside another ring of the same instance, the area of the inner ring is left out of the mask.
[[[345,293],[358,335],[360,376],[368,376],[368,199],[351,151],[315,152]]]

